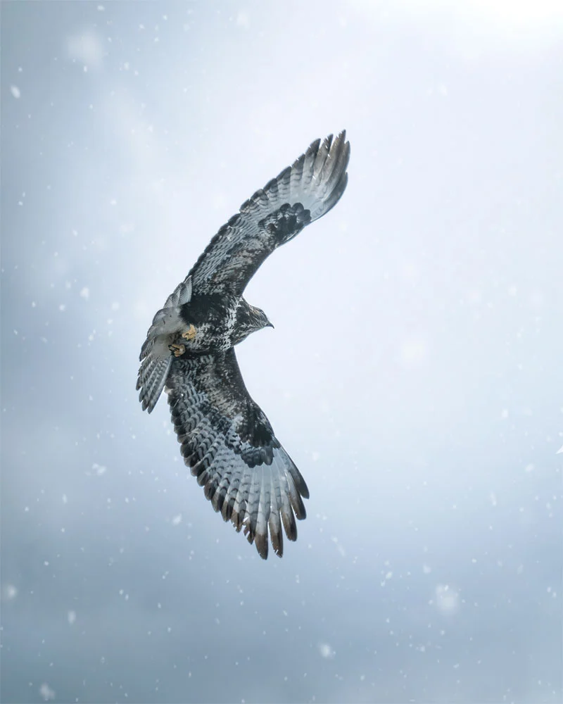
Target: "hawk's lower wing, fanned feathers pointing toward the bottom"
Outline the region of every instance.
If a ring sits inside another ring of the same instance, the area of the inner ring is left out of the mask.
[[[296,540],[295,518],[305,518],[301,497],[309,490],[248,394],[234,349],[173,360],[165,391],[184,462],[205,497],[237,531],[244,528],[264,559],[269,530],[281,557],[281,524]]]

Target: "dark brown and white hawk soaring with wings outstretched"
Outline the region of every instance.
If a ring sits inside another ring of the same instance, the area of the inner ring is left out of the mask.
[[[309,490],[244,385],[234,346],[273,327],[243,298],[270,254],[328,213],[346,189],[346,132],[317,139],[293,165],[256,191],[213,237],[154,316],[141,348],[137,390],[151,413],[163,389],[184,463],[205,497],[260,557],[296,540]]]

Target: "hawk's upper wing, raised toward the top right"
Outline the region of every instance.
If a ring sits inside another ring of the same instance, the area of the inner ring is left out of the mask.
[[[194,290],[240,295],[262,262],[309,222],[338,203],[346,189],[350,143],[317,139],[293,165],[243,203],[191,269]]]

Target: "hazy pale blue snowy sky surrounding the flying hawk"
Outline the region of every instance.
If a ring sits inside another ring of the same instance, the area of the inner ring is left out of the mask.
[[[3,701],[562,701],[562,77],[560,1],[1,5]],[[137,356],[343,127],[247,289],[311,491],[262,562]]]

